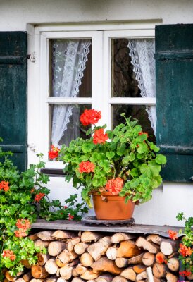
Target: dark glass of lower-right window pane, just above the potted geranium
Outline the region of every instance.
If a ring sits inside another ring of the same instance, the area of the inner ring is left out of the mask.
[[[149,107],[151,108],[151,107]],[[151,109],[149,109],[151,111]],[[115,128],[120,123],[125,123],[125,118],[120,116],[121,113],[125,113],[127,117],[137,118],[139,124],[142,125],[142,130],[147,132],[149,140],[155,142],[156,137],[154,131],[151,128],[151,123],[148,118],[147,106],[142,105],[111,105],[111,128]]]

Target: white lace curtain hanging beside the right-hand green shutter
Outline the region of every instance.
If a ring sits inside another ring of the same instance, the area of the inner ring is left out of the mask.
[[[142,97],[156,97],[155,40],[129,39],[128,48]],[[147,106],[146,110],[156,135],[156,106]]]

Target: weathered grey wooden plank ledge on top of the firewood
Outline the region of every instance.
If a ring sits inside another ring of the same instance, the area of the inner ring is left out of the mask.
[[[168,236],[168,230],[178,232],[179,227],[176,226],[153,226],[153,225],[141,225],[135,224],[133,226],[96,226],[96,225],[84,225],[80,221],[45,221],[44,219],[37,219],[32,224],[34,229],[61,229],[71,231],[99,231],[99,232],[124,232],[124,233],[142,233],[142,234],[158,234],[164,237]],[[178,234],[179,235],[179,234]],[[181,235],[181,234],[180,234]]]

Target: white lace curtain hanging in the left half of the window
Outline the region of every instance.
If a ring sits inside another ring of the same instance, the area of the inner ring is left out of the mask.
[[[91,40],[89,39],[56,40],[54,42],[52,49],[53,97],[78,96],[90,45]],[[77,121],[78,115],[79,111],[75,109],[75,106],[54,104],[51,133],[51,143],[54,146],[60,147],[58,143],[67,129],[70,116],[73,117],[73,121]],[[76,128],[70,130],[73,136],[68,134],[66,143],[79,135],[77,130]]]

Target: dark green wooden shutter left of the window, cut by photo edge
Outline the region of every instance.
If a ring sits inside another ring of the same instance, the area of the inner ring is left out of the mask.
[[[27,32],[0,32],[0,137],[13,162],[27,167]]]

